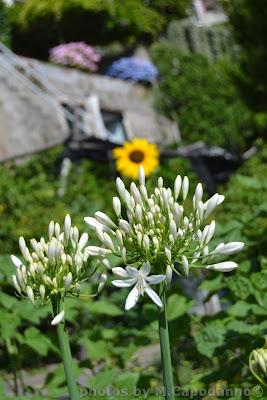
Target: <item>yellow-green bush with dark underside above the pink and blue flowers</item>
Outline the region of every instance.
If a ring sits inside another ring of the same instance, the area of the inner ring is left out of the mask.
[[[60,42],[134,44],[158,35],[164,17],[142,0],[27,0],[13,10],[13,47],[25,55],[47,58]]]

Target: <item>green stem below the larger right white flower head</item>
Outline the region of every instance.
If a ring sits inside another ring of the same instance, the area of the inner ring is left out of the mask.
[[[159,308],[158,320],[159,320],[159,337],[160,337],[161,360],[163,368],[163,380],[166,391],[165,400],[174,400],[170,338],[169,338],[167,310],[166,310],[166,295],[163,286],[161,287],[161,301],[163,307]]]

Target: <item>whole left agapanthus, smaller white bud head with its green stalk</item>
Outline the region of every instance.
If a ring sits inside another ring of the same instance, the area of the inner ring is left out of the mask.
[[[63,230],[58,223],[50,222],[47,241],[44,238],[40,241],[31,239],[32,250],[27,247],[24,238],[20,237],[19,247],[24,261],[11,256],[16,267],[13,283],[17,293],[28,298],[32,304],[42,305],[50,302],[52,305],[51,324],[57,329],[71,400],[79,399],[79,392],[64,323],[64,299],[67,296],[79,296],[89,257],[86,251],[87,242],[88,234],[83,233],[80,236],[78,228],[72,226],[71,218],[67,215]],[[102,282],[103,277],[99,288]]]

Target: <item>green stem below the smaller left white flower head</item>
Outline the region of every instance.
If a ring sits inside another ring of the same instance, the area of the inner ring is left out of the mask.
[[[61,300],[59,298],[53,299],[52,307],[53,307],[53,313],[54,313],[54,317],[55,317],[61,311],[61,307],[62,307]],[[65,327],[64,322],[60,322],[57,325],[57,336],[58,336],[61,357],[62,357],[62,361],[63,361],[63,365],[64,365],[66,380],[67,380],[67,384],[68,384],[68,388],[69,388],[70,399],[71,400],[79,400],[80,396],[79,396],[78,386],[75,381],[74,373],[73,373],[73,361],[72,361],[72,356],[71,356],[69,338],[68,338],[68,334],[66,332],[66,327]]]

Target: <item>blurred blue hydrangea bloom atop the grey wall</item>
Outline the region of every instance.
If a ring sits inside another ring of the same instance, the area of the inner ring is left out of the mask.
[[[153,82],[157,79],[157,67],[150,61],[137,57],[123,57],[114,61],[106,75],[133,82]]]

